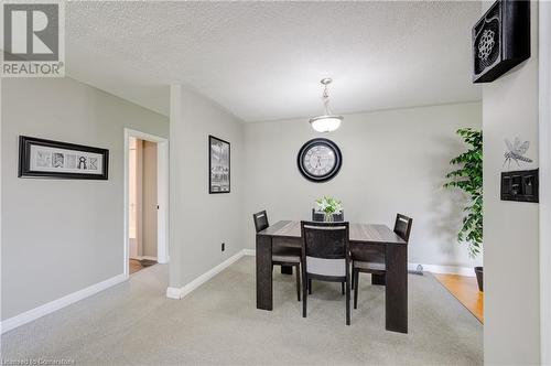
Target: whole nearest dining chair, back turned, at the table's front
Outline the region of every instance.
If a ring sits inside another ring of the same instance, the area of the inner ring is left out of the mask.
[[[348,223],[301,222],[302,316],[306,317],[309,280],[346,286],[346,325],[350,325],[350,246]]]

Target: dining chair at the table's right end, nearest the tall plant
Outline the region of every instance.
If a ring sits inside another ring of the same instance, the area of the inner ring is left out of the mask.
[[[406,243],[410,240],[411,226],[413,218],[402,214],[396,215],[395,233],[402,238]],[[358,309],[358,289],[359,289],[359,273],[371,273],[371,276],[380,276],[382,279],[380,284],[386,284],[387,268],[385,258],[374,256],[368,260],[353,260],[352,273],[354,283],[354,309]]]

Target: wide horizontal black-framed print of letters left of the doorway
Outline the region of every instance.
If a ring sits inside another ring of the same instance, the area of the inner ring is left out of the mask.
[[[19,137],[19,176],[107,180],[109,150]]]

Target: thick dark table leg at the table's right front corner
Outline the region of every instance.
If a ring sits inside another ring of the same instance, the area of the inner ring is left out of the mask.
[[[387,245],[386,327],[408,333],[408,246]]]

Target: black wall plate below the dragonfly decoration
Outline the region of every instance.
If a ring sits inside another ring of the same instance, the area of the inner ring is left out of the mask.
[[[538,169],[501,173],[501,201],[539,202]]]

